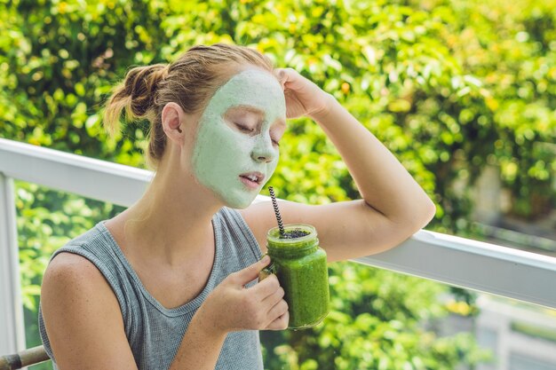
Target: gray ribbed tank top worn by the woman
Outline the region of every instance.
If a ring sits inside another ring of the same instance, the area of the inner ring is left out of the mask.
[[[83,256],[95,264],[120,303],[125,335],[139,369],[167,369],[178,351],[189,322],[207,295],[230,273],[254,264],[261,256],[257,240],[237,210],[226,207],[220,209],[212,217],[212,224],[216,256],[208,282],[200,295],[170,310],[164,308],[143,287],[138,275],[108,232],[104,221],[54,252],[51,261],[61,252],[69,252]],[[251,284],[253,283],[255,282]],[[54,369],[58,369],[40,306],[38,319],[44,349],[52,358]],[[229,333],[215,368],[262,370],[258,331]]]

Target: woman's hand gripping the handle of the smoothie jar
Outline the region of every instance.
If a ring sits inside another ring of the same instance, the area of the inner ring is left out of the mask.
[[[197,311],[204,327],[218,333],[238,330],[283,330],[288,327],[288,303],[275,275],[253,287],[245,285],[257,279],[270,262],[266,256],[242,271],[224,279]],[[196,314],[195,314],[196,315]]]

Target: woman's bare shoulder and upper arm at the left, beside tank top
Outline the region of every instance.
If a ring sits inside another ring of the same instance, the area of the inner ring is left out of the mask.
[[[130,352],[123,313],[112,288],[83,256],[60,253],[49,264],[41,287],[40,315],[45,349],[59,365],[75,367],[71,364],[79,363],[86,354],[94,358],[97,353],[93,350],[105,356],[106,350],[126,349],[127,345]],[[90,345],[91,341],[102,342],[107,348],[99,350],[97,344]]]

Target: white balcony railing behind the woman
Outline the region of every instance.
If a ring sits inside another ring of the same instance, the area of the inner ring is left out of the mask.
[[[0,138],[0,354],[25,347],[13,179],[128,207],[151,177],[144,169]],[[549,256],[422,230],[355,261],[556,309],[556,258]]]

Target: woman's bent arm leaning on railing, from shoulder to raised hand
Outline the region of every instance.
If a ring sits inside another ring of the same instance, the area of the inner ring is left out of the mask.
[[[435,207],[392,153],[330,94],[291,68],[277,71],[288,118],[314,119],[337,147],[362,200],[325,205],[279,201],[287,224],[313,224],[330,262],[393,248],[428,224]],[[241,210],[263,251],[275,226],[272,206]]]

